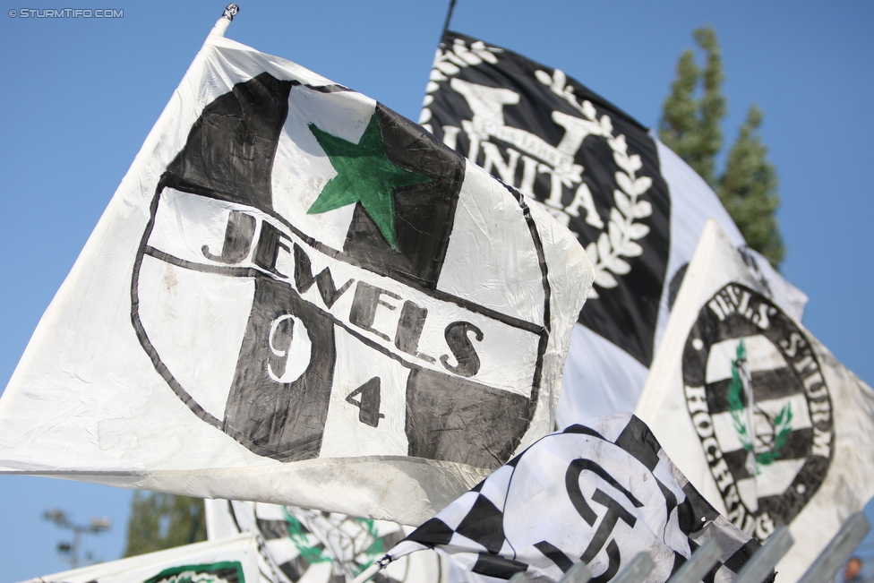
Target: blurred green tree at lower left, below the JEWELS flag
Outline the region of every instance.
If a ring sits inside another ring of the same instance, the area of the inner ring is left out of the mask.
[[[200,498],[133,493],[125,557],[206,540],[206,513]]]

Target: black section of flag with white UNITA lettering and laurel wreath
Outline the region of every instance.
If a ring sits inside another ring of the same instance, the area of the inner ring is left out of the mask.
[[[445,79],[432,81],[439,89],[421,121],[570,227],[596,266],[579,322],[649,366],[671,198],[647,129],[561,71],[506,49],[451,32],[441,49],[435,70]]]

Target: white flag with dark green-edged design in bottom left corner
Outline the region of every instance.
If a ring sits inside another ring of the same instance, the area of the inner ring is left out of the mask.
[[[257,558],[254,536],[243,533],[65,570],[26,583],[258,583]]]

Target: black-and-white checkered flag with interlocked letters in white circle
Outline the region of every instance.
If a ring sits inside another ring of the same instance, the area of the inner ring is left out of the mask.
[[[609,581],[638,553],[666,581],[716,539],[705,579],[730,581],[759,544],[720,516],[630,413],[571,425],[534,443],[399,543],[387,560],[434,548],[467,570],[558,581],[576,562]]]

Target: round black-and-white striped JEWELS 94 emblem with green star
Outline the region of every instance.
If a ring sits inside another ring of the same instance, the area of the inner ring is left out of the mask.
[[[258,455],[500,467],[544,373],[535,219],[505,193],[516,204],[489,220],[518,229],[519,281],[543,291],[484,295],[476,278],[500,277],[487,270],[504,252],[468,256],[482,218],[458,203],[482,170],[379,105],[329,123],[311,109],[327,99],[333,112],[338,94],[292,86],[270,73],[237,83],[167,164],[132,273],[141,347],[196,416]]]

